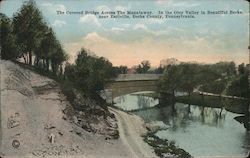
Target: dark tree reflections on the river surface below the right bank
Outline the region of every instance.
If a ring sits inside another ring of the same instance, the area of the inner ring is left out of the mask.
[[[189,122],[200,122],[204,125],[223,127],[227,111],[176,103],[160,109],[146,109],[134,113],[140,115],[146,122],[163,121],[165,124],[172,125],[173,128],[185,128]]]

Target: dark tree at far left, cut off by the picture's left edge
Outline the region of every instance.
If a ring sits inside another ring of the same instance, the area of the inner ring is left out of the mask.
[[[0,30],[1,30],[1,58],[16,59],[19,57],[19,51],[16,46],[15,35],[13,34],[12,22],[4,14],[0,13]]]

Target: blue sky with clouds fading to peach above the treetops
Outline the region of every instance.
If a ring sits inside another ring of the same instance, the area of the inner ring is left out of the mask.
[[[12,17],[22,0],[1,2],[1,12]],[[249,63],[249,3],[245,0],[36,0],[70,62],[84,47],[113,65],[138,65],[149,60]],[[101,19],[93,14],[57,11],[240,11],[241,14],[197,15],[189,19]]]

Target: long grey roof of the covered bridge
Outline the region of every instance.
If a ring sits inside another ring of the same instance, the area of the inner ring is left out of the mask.
[[[120,74],[114,81],[145,81],[145,80],[159,80],[162,74]]]

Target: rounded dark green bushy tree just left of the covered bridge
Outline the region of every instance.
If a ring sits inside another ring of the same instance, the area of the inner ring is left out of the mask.
[[[114,76],[112,63],[103,57],[91,55],[82,48],[75,64],[67,64],[65,78],[72,81],[78,89],[94,94],[102,90],[108,80]]]

